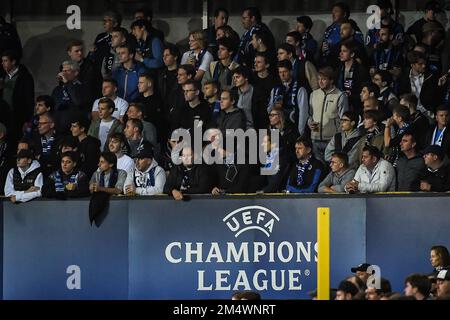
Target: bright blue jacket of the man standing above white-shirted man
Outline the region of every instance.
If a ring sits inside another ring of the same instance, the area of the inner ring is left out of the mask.
[[[117,95],[128,102],[137,99],[139,97],[139,76],[144,74],[145,71],[144,65],[137,61],[134,61],[133,66],[129,70],[122,65],[114,70],[112,77],[119,85]]]

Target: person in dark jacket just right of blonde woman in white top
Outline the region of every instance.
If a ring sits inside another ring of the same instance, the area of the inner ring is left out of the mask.
[[[233,70],[239,65],[233,61],[237,45],[231,38],[222,38],[217,40],[218,45],[218,59],[219,61],[212,61],[206,71],[202,83],[214,80],[220,83],[221,88],[230,88],[232,85]]]

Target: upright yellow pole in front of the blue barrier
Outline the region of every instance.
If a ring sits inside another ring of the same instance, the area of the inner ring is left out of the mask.
[[[330,208],[317,209],[317,300],[330,300]]]

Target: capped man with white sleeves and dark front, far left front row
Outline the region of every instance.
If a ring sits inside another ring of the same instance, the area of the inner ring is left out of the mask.
[[[17,167],[8,172],[5,196],[13,203],[41,197],[43,176],[39,163],[33,161],[33,158],[30,150],[20,150],[17,154]]]

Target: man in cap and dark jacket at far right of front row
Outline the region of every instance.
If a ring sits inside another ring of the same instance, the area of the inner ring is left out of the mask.
[[[413,183],[414,191],[450,191],[450,165],[442,147],[428,146],[423,152],[426,168]]]

